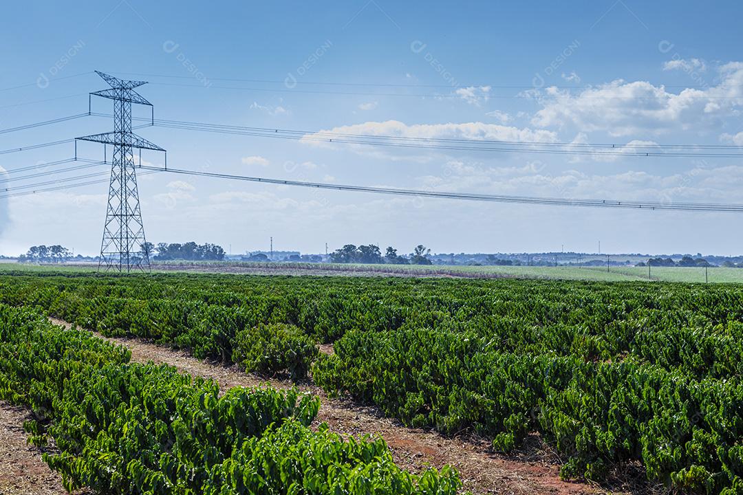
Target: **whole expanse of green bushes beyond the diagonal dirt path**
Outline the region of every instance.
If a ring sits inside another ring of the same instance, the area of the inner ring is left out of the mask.
[[[499,451],[538,431],[565,477],[639,461],[676,491],[743,484],[742,286],[18,275],[0,302],[297,378],[334,342],[314,381],[406,424]]]

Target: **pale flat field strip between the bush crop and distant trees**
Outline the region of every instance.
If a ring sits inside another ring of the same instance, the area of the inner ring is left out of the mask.
[[[94,272],[93,264],[24,265],[0,263],[0,271]],[[462,278],[545,278],[583,281],[646,281],[642,266],[447,266],[447,265],[362,265],[339,263],[247,263],[247,262],[169,262],[154,263],[154,272],[209,272],[245,275],[345,275],[397,277]],[[704,268],[652,267],[650,280],[662,282],[704,283]],[[708,269],[710,283],[743,283],[743,269]]]

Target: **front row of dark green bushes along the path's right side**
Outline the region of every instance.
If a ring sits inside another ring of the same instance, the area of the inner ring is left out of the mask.
[[[739,376],[700,380],[684,367],[504,352],[442,330],[347,332],[335,350],[314,367],[325,390],[348,391],[412,426],[472,428],[499,451],[539,430],[567,459],[566,478],[602,479],[632,459],[649,478],[687,491],[718,493],[743,476]]]

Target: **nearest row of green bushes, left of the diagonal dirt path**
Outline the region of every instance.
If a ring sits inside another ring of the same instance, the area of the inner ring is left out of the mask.
[[[0,304],[0,399],[32,408],[36,445],[68,491],[98,494],[454,495],[457,474],[400,470],[382,440],[309,425],[319,400],[129,364],[129,353]]]

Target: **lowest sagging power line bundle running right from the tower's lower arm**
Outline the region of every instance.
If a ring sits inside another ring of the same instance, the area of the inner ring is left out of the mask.
[[[529,197],[529,196],[507,196],[501,194],[472,194],[440,191],[421,191],[415,189],[392,189],[371,186],[348,186],[329,183],[311,183],[299,180],[269,179],[265,177],[248,177],[244,175],[218,174],[215,172],[189,171],[178,168],[155,168],[142,167],[152,171],[167,171],[172,174],[186,174],[200,177],[216,177],[230,180],[244,180],[249,182],[279,184],[282,186],[298,186],[313,189],[333,189],[337,191],[369,192],[376,194],[392,194],[398,196],[435,197],[440,199],[473,200],[493,203],[522,203],[548,206],[584,206],[595,208],[625,208],[625,209],[648,209],[648,210],[676,210],[696,212],[743,212],[743,204],[723,203],[661,203],[654,201],[623,201],[623,200],[586,200],[567,199],[557,197]]]

